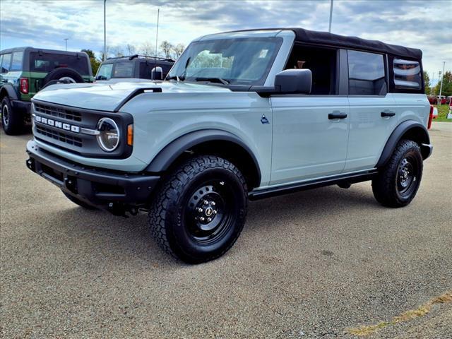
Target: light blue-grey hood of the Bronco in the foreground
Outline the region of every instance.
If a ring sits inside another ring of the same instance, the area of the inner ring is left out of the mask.
[[[112,112],[135,90],[160,88],[162,93],[218,93],[230,92],[228,88],[201,83],[176,81],[129,80],[124,82],[76,83],[51,85],[34,97],[54,104]],[[161,93],[155,93],[160,95]],[[125,103],[125,102],[124,102]]]

